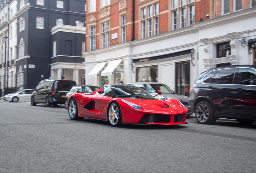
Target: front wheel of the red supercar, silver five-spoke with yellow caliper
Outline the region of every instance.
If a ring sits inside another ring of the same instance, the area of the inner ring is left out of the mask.
[[[117,103],[112,103],[108,108],[107,119],[111,126],[120,127],[122,125],[122,113]]]

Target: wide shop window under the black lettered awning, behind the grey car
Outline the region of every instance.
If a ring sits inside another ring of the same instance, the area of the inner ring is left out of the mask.
[[[136,82],[157,82],[158,66],[136,68]]]

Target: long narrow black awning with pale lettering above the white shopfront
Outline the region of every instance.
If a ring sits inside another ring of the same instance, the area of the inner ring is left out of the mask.
[[[132,62],[144,62],[144,61],[150,61],[150,60],[171,58],[171,57],[174,57],[174,56],[181,56],[181,55],[184,55],[184,54],[190,54],[191,50],[194,50],[194,49],[183,50],[183,51],[180,51],[180,52],[174,52],[174,53],[164,54],[164,55],[160,55],[160,56],[151,56],[151,57],[148,57],[148,58],[133,59]]]

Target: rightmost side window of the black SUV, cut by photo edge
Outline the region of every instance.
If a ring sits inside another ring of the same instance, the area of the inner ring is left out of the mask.
[[[236,83],[256,85],[256,70],[252,68],[239,68]]]

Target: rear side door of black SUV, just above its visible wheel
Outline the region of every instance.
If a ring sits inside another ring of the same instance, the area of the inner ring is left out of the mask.
[[[205,93],[211,99],[217,117],[225,117],[233,111],[235,68],[217,70],[206,85]]]

